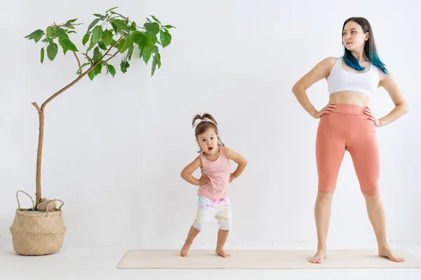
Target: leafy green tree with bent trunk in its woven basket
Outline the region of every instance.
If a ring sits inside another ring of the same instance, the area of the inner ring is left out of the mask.
[[[25,36],[29,40],[34,40],[35,43],[44,43],[41,47],[41,63],[44,63],[45,56],[53,61],[58,54],[60,45],[64,55],[72,53],[78,68],[76,78],[46,99],[41,106],[36,102],[32,103],[39,116],[35,202],[30,195],[18,190],[16,193],[18,209],[16,209],[15,219],[10,228],[13,248],[16,253],[21,255],[46,255],[59,251],[66,231],[61,210],[64,203],[61,200],[47,200],[41,196],[41,158],[44,140],[44,113],[47,104],[69,90],[85,76],[93,80],[101,73],[109,73],[114,78],[116,69],[109,62],[116,59],[119,54],[122,55],[120,70],[122,73],[126,73],[135,49],[139,50],[139,57],[145,64],[152,60],[151,76],[153,76],[156,69],[161,67],[159,46],[166,48],[171,43],[170,29],[175,28],[172,25],[162,25],[154,15],[151,15],[152,19],[146,18],[140,27],[128,17],[116,13],[116,8],[118,7],[111,8],[104,14],[93,14],[95,19],[88,25],[81,42],[83,46],[86,46],[85,52],[80,52],[70,39],[70,36],[76,33],[76,27],[82,25],[77,22],[77,19],[67,20],[61,24],[54,22],[45,31],[37,29]],[[83,58],[81,59],[81,57]],[[31,208],[22,209],[20,207],[19,193],[25,193],[31,198]],[[60,202],[60,207],[56,207],[56,202]]]

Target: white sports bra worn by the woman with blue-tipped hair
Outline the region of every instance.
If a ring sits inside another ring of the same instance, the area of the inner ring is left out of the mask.
[[[328,92],[361,92],[371,98],[377,90],[380,75],[377,67],[370,64],[370,70],[364,73],[354,73],[347,71],[342,66],[343,58],[340,57],[333,65],[328,76]]]

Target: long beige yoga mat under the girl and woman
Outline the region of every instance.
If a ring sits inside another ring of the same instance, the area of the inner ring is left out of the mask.
[[[300,268],[421,268],[421,261],[406,251],[396,255],[406,262],[380,258],[377,250],[330,250],[322,264],[308,262],[314,251],[304,250],[233,250],[231,258],[222,258],[212,250],[190,250],[185,258],[179,250],[129,250],[118,268],[142,269],[300,269]]]

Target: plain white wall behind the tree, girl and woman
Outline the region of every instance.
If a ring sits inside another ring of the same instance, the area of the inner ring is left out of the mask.
[[[39,63],[40,43],[23,36],[51,22],[120,6],[131,19],[149,14],[175,25],[162,67],[133,60],[114,79],[84,78],[46,107],[43,196],[65,202],[66,246],[178,248],[196,213],[196,187],[180,178],[196,157],[192,116],[209,112],[227,146],[248,160],[232,186],[232,248],[314,244],[318,121],[291,93],[298,78],[327,56],[342,55],[342,22],[370,20],[380,57],[395,74],[410,112],[377,130],[380,191],[388,239],[421,241],[421,64],[417,1],[10,1],[1,17],[0,235],[17,207],[15,192],[35,193],[41,104],[75,78],[76,61],[61,50]],[[72,38],[79,50],[86,25]],[[77,38],[77,39],[76,39]],[[119,66],[119,61],[114,60]],[[309,90],[316,108],[328,101],[326,81]],[[387,92],[373,99],[378,117],[393,108]],[[234,169],[234,165],[232,168]],[[29,200],[22,197],[29,207]],[[216,223],[199,235],[212,248]],[[357,246],[375,237],[352,160],[345,155],[333,200],[330,244]]]

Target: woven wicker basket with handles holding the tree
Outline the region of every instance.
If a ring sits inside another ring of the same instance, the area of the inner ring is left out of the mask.
[[[20,255],[48,255],[56,253],[62,248],[65,231],[67,230],[62,218],[61,200],[51,200],[61,202],[58,209],[52,211],[34,211],[35,205],[32,197],[25,193],[32,200],[32,208],[21,209],[18,190],[16,200],[15,220],[11,225],[13,248]],[[49,204],[49,203],[48,203]]]

